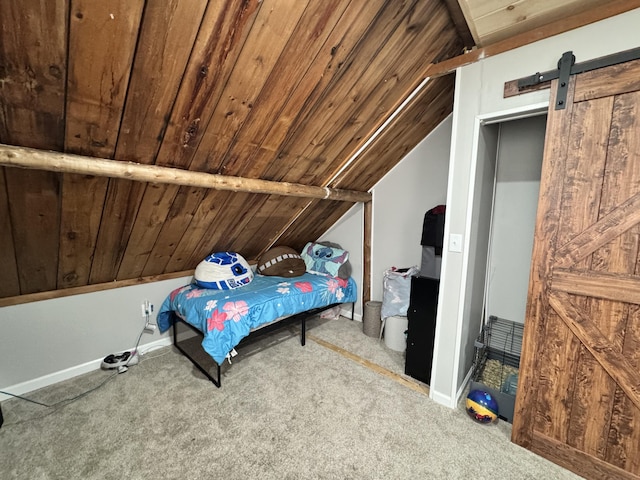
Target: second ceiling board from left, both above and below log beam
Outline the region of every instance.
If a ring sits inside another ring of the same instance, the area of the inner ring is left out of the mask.
[[[140,0],[73,3],[66,151],[113,157],[143,6]],[[96,49],[96,44],[105,50]],[[63,183],[61,245],[68,253],[60,258],[59,277],[64,286],[114,280],[122,249],[112,248],[114,240],[108,234],[114,232],[100,236],[94,227],[103,216],[108,180],[66,175]],[[87,192],[92,193],[87,196]],[[76,215],[76,211],[84,214]],[[90,269],[86,259],[93,259]]]

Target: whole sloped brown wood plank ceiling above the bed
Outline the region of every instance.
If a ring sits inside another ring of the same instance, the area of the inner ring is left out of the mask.
[[[430,64],[473,47],[462,10],[3,0],[0,143],[367,192],[451,112],[453,75],[434,78],[365,145]],[[212,251],[301,249],[351,206],[3,167],[0,298],[162,278]]]

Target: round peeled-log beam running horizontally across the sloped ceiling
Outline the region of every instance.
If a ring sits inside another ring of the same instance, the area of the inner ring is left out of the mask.
[[[232,192],[264,193],[268,195],[319,198],[353,203],[368,202],[371,200],[371,193],[369,192],[339,190],[289,182],[273,182],[257,178],[194,172],[178,168],[119,162],[3,144],[0,144],[0,165],[5,167],[46,170],[50,172],[123,178],[137,182],[211,188]]]

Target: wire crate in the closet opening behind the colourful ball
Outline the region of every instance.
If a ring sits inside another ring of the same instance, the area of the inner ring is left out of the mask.
[[[513,421],[524,325],[490,316],[475,342],[471,390],[498,401],[500,417]]]

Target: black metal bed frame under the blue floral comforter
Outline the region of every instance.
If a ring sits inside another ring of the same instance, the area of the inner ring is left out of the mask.
[[[237,347],[241,347],[243,344],[246,344],[249,341],[256,339],[257,337],[263,336],[276,329],[280,329],[286,325],[291,325],[293,323],[296,323],[297,321],[300,321],[300,344],[304,347],[307,341],[307,333],[306,333],[307,319],[315,315],[318,315],[319,313],[322,313],[325,310],[329,310],[330,308],[336,307],[338,305],[344,305],[344,304],[333,303],[325,307],[314,308],[311,310],[297,313],[295,315],[291,315],[289,317],[282,318],[281,320],[276,320],[264,327],[251,331],[247,337],[242,339],[242,341],[237,345]],[[355,313],[355,302],[352,303],[351,305],[351,320],[353,320],[354,318],[354,313]],[[199,353],[202,354],[205,361],[200,361],[196,359],[195,355],[193,355],[191,352],[187,351],[186,348],[180,345],[180,340],[178,339],[178,326],[188,327],[188,329],[191,330],[195,334],[195,336],[200,339],[200,341],[204,338],[204,334],[193,325],[187,323],[182,318],[178,317],[177,315],[175,316],[175,321],[173,324],[173,344],[185,357],[187,357],[191,361],[191,363],[193,363],[193,365],[198,370],[200,370],[200,372],[202,372],[209,380],[211,380],[211,382],[213,382],[213,384],[216,387],[220,388],[222,386],[222,376],[220,371],[221,365],[215,362],[213,358],[209,356],[209,354],[205,353],[204,349],[202,349],[201,346],[199,348]],[[206,365],[204,365],[205,362],[209,362],[209,361],[211,364],[213,364],[213,367],[211,369],[216,371],[215,376],[212,375],[209,371],[210,369],[207,369]]]

